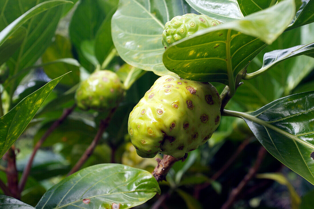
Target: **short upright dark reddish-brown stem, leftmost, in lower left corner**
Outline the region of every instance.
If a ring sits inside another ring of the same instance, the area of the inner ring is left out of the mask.
[[[21,193],[18,189],[18,171],[16,169],[16,158],[15,158],[15,148],[12,146],[6,153],[6,160],[8,162],[8,166],[6,169],[7,179],[8,179],[8,189],[12,195],[12,197],[16,199],[21,199]]]

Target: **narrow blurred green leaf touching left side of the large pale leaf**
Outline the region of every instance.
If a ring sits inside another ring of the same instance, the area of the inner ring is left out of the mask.
[[[102,64],[106,57],[110,54],[114,48],[112,37],[111,37],[111,18],[115,13],[116,8],[106,15],[106,19],[100,25],[95,37],[95,55],[100,64]]]

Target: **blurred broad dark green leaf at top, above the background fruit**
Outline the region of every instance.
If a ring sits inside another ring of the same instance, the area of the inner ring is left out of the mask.
[[[96,33],[105,17],[106,14],[100,7],[99,1],[80,1],[69,25],[70,39],[77,50],[79,62],[89,72],[95,70],[95,63],[93,65],[83,55],[81,50],[82,42],[95,40]]]

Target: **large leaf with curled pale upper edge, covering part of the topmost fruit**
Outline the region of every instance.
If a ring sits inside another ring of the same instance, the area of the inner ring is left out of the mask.
[[[294,11],[294,1],[285,0],[243,19],[199,31],[170,45],[163,55],[165,67],[181,78],[234,86],[238,72],[263,50],[265,42],[272,43],[284,31]]]

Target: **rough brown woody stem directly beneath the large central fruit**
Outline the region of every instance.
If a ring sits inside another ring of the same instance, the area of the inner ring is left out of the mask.
[[[153,176],[155,179],[159,182],[162,180],[166,180],[166,175],[168,174],[168,171],[171,169],[173,164],[179,160],[184,161],[187,158],[187,153],[184,155],[183,158],[175,158],[170,155],[164,155],[162,159],[156,158],[156,161],[158,162],[158,165],[155,167],[153,171]]]

